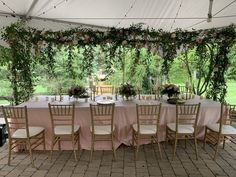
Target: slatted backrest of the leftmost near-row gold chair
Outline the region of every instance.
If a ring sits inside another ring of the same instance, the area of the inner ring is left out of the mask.
[[[2,106],[3,115],[7,125],[8,138],[18,129],[26,129],[26,135],[29,137],[29,125],[27,107]]]

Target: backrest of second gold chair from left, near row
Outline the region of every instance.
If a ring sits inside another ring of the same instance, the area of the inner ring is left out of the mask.
[[[48,103],[48,107],[53,130],[55,126],[70,125],[74,133],[75,105]]]

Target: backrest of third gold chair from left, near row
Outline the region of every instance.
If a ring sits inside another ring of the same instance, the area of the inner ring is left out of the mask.
[[[94,126],[110,125],[111,132],[114,126],[115,104],[90,104],[92,132]]]

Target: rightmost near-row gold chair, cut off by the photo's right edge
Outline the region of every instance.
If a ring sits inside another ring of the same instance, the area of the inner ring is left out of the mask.
[[[231,124],[235,121],[236,109],[234,105],[226,106],[221,104],[220,119],[215,124],[209,124],[205,127],[204,145],[205,149],[206,141],[215,144],[214,160],[219,150],[219,145],[223,141],[223,148],[225,147],[226,139],[236,138],[236,128]]]

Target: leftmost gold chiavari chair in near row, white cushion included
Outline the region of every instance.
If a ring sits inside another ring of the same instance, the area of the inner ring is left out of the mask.
[[[43,145],[43,149],[45,150],[44,128],[29,126],[26,106],[2,106],[2,110],[9,139],[8,165],[10,165],[11,161],[11,151],[18,145],[23,145],[29,150],[31,164],[35,167],[32,150],[39,145]]]

